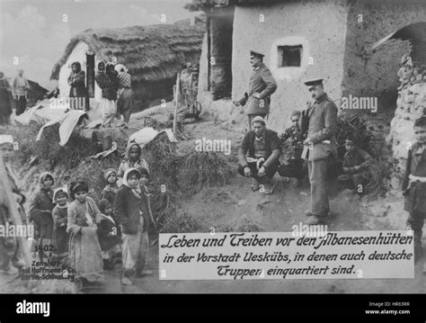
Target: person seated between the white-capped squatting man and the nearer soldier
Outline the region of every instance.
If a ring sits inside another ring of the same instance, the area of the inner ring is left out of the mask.
[[[280,166],[278,173],[283,177],[295,177],[296,183],[293,187],[298,187],[302,183],[303,178],[303,163],[304,159],[301,158],[304,140],[307,138],[307,131],[300,129],[300,114],[299,111],[291,113],[291,127],[284,130],[284,133],[280,135],[280,144],[283,148],[284,143],[288,138],[291,138],[291,146],[293,151],[289,158],[280,157]]]

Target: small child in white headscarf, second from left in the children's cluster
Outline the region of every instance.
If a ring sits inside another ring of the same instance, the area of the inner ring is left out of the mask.
[[[55,256],[61,263],[65,263],[68,256],[68,193],[67,188],[60,187],[53,193],[53,202],[57,205],[52,211],[53,214],[53,247]]]

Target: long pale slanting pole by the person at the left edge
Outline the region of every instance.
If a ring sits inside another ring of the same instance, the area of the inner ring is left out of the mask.
[[[16,207],[16,202],[13,198],[12,187],[9,184],[9,176],[7,175],[6,167],[4,166],[3,154],[0,150],[0,178],[3,180],[0,181],[0,184],[3,185],[5,197],[8,205],[8,211],[12,215],[13,224],[16,226],[22,226],[21,215],[19,214],[18,208]],[[16,232],[17,230],[15,230]],[[23,260],[25,262],[26,268],[31,267],[31,252],[25,237],[17,237],[18,244],[21,247],[23,253]]]

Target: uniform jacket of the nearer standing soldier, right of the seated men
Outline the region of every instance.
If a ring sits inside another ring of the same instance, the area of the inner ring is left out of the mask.
[[[302,112],[302,131],[306,130],[307,137],[313,143],[309,150],[309,161],[326,159],[330,156],[337,158],[337,106],[324,93],[314,104]],[[324,143],[323,140],[330,140]]]

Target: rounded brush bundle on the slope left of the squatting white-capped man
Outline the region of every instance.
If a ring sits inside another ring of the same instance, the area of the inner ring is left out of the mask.
[[[233,175],[233,167],[222,154],[194,151],[181,158],[178,183],[182,193],[191,195],[203,186],[229,184]]]

